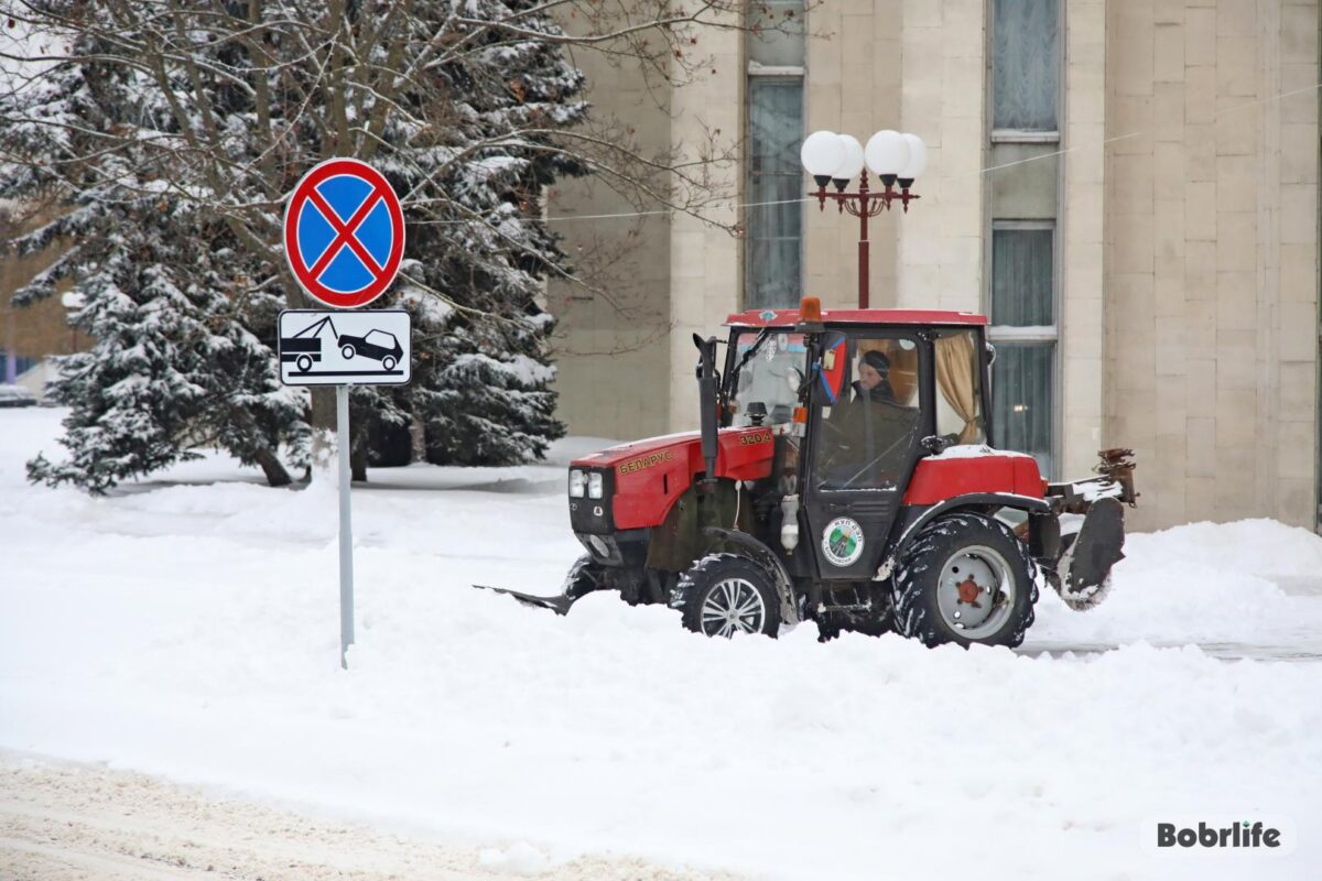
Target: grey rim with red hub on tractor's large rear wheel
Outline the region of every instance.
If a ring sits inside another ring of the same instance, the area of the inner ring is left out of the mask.
[[[974,544],[952,553],[941,567],[936,604],[947,627],[965,639],[982,639],[1005,626],[1017,588],[1005,556]]]

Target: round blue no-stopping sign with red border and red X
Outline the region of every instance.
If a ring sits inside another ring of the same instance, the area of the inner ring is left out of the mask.
[[[293,188],[284,254],[313,299],[340,309],[366,305],[390,287],[403,262],[399,198],[366,162],[327,160]]]

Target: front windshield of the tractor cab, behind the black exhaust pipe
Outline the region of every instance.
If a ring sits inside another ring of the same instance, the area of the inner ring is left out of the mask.
[[[731,386],[731,424],[736,427],[759,421],[763,425],[788,423],[798,404],[798,384],[808,358],[804,334],[772,332],[754,349],[758,337],[756,333],[743,333],[735,341],[735,365],[752,351],[747,363],[738,367]]]

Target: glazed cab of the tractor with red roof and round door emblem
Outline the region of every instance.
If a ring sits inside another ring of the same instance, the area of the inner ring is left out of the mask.
[[[808,532],[837,536],[816,576],[870,579],[886,543],[867,536],[890,534],[923,460],[989,449],[986,318],[808,309],[806,320],[797,309],[730,317],[724,423],[771,428],[773,474],[798,495]],[[1040,498],[1032,460],[1018,465],[1021,489]]]

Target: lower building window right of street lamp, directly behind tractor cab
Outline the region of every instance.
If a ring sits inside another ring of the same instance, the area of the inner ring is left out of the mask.
[[[992,227],[992,420],[1002,449],[1055,465],[1055,229],[1043,221]]]

